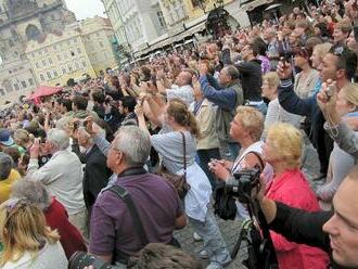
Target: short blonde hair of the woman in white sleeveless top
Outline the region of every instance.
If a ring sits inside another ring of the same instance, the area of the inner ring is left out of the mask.
[[[236,117],[254,141],[258,141],[264,131],[264,115],[251,106],[238,106]]]

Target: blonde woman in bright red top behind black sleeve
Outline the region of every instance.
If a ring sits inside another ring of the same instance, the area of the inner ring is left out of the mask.
[[[299,170],[303,138],[289,124],[277,124],[267,133],[263,146],[264,158],[273,167],[274,177],[267,185],[266,196],[296,208],[318,212],[318,201],[304,174]],[[291,243],[271,232],[281,269],[325,269],[329,257],[322,251]]]

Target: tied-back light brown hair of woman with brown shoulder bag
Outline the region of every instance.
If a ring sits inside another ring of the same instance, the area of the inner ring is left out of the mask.
[[[188,127],[194,137],[200,138],[201,132],[195,116],[188,110],[188,105],[180,99],[172,99],[168,103],[167,113],[174,120],[183,127]]]

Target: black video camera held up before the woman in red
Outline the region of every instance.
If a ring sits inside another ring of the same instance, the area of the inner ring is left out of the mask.
[[[233,179],[229,179],[225,189],[228,195],[238,197],[241,203],[250,203],[253,189],[259,185],[259,168],[243,169],[233,174]]]

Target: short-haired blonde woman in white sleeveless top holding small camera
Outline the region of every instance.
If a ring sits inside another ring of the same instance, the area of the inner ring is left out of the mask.
[[[239,156],[234,162],[229,161],[213,161],[209,164],[212,172],[219,180],[228,180],[232,178],[233,174],[247,167],[258,166],[263,168],[260,155],[263,153],[263,142],[260,141],[264,130],[264,116],[254,107],[239,106],[236,110],[236,116],[231,121],[230,136],[236,142],[241,144]],[[253,153],[255,152],[258,156]],[[271,177],[271,168],[265,167],[265,179],[269,181]],[[250,218],[246,208],[236,203],[238,212],[236,217],[239,219]]]

